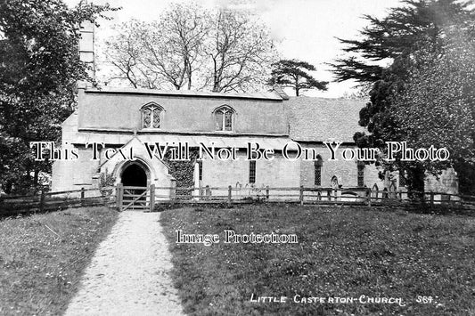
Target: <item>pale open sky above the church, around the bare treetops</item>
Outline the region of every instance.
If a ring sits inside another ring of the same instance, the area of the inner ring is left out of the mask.
[[[95,4],[108,2],[121,7],[111,13],[113,20],[100,22],[96,29],[98,41],[111,35],[114,24],[129,19],[157,20],[169,4],[188,0],[95,0]],[[78,0],[65,0],[75,5]],[[88,1],[89,3],[91,0]],[[255,12],[273,36],[278,52],[284,59],[299,59],[314,64],[312,75],[320,81],[329,81],[328,90],[308,91],[306,95],[338,98],[351,92],[353,82],[336,83],[325,63],[344,56],[343,45],[336,37],[358,38],[359,30],[368,25],[365,14],[379,18],[387,15],[389,8],[401,5],[400,0],[201,0],[201,5],[242,8]],[[288,91],[291,93],[291,91]]]

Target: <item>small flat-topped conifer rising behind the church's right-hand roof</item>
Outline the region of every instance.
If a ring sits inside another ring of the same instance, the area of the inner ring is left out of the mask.
[[[307,61],[282,60],[273,65],[272,77],[268,80],[269,85],[283,85],[295,90],[299,96],[300,90],[318,89],[326,90],[328,82],[318,81],[308,71],[315,71],[315,66]]]

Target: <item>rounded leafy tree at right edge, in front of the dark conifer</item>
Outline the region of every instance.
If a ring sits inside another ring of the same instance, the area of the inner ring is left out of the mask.
[[[475,24],[447,29],[441,49],[414,53],[421,67],[394,102],[398,126],[414,148],[445,147],[460,190],[475,194]],[[437,174],[443,164],[427,164]]]

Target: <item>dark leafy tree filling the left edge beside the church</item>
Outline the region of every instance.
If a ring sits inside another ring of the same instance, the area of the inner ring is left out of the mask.
[[[7,193],[36,188],[51,163],[36,162],[29,142],[54,141],[74,108],[80,24],[104,17],[108,5],[61,0],[0,2],[0,185]]]

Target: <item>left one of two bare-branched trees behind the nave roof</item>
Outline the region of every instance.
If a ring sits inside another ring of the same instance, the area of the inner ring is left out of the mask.
[[[194,4],[173,4],[159,21],[120,25],[106,41],[106,55],[119,77],[135,88],[191,89],[193,74],[201,68],[208,21],[208,12]]]

